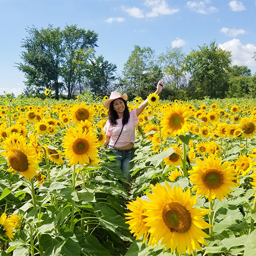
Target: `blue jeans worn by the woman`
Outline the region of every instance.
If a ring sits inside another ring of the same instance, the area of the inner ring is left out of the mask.
[[[111,148],[113,150],[113,152],[115,153],[115,155],[116,155],[115,163],[122,170],[122,173],[124,174],[124,176],[126,178],[126,181],[130,182],[131,181],[130,169],[132,167],[132,164],[130,161],[133,158],[133,155],[132,155],[133,148],[131,148],[131,150],[118,150],[117,148],[110,146],[110,145],[109,145],[109,148]]]

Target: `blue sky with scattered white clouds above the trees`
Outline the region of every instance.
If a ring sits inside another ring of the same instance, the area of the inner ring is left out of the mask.
[[[26,28],[49,24],[96,32],[96,55],[115,63],[118,75],[135,45],[189,54],[211,41],[231,51],[232,65],[256,72],[255,0],[0,0],[0,94],[23,92],[26,78],[15,63]]]

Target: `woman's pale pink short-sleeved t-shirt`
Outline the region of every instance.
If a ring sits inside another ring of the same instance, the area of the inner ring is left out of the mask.
[[[130,111],[130,118],[129,121],[123,126],[122,118],[117,119],[117,125],[111,126],[109,119],[106,121],[106,124],[103,128],[103,131],[106,132],[106,135],[110,136],[110,146],[115,147],[123,147],[128,145],[129,143],[135,142],[135,126],[138,124],[138,116],[136,109]],[[116,142],[123,126],[123,131]]]

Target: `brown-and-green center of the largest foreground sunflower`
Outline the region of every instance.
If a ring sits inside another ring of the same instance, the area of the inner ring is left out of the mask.
[[[191,226],[190,212],[178,202],[170,202],[164,205],[162,219],[171,232],[184,233]]]

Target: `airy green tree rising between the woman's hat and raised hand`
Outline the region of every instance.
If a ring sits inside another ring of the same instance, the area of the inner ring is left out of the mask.
[[[150,47],[135,45],[134,50],[124,64],[123,82],[129,98],[146,97],[153,91],[154,82],[162,77],[162,72],[156,64],[155,52]]]

